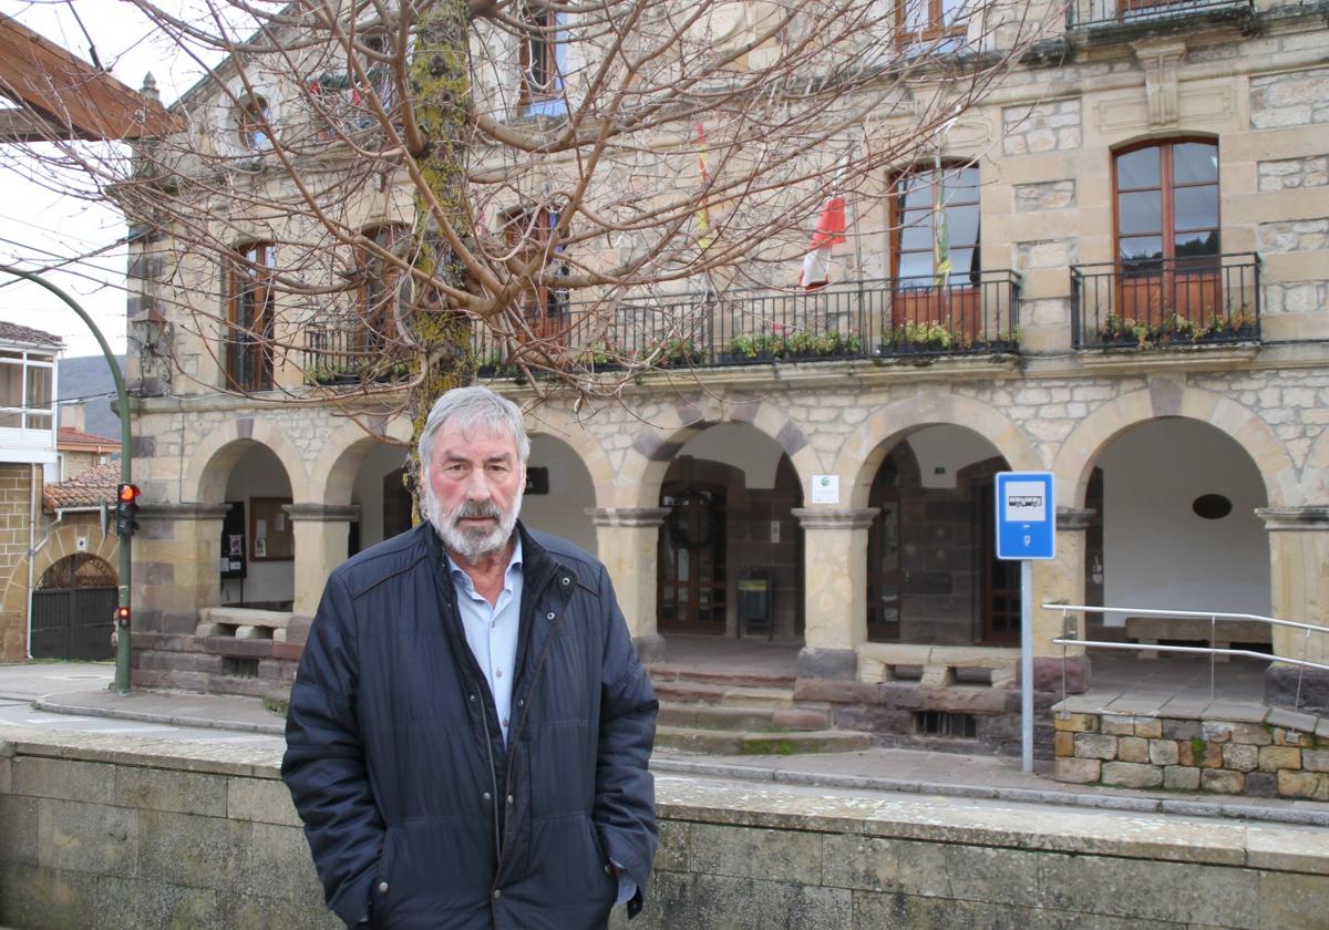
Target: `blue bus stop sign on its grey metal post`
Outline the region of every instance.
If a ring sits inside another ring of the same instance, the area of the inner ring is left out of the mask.
[[[1019,562],[1021,756],[1034,771],[1034,561],[1057,557],[1051,472],[997,473],[997,558]]]

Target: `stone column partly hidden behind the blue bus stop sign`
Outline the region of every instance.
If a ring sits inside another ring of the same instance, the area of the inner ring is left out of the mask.
[[[1034,562],[1034,688],[1061,691],[1065,666],[1066,691],[1082,694],[1088,687],[1090,658],[1083,646],[1061,647],[1062,614],[1043,610],[1045,603],[1084,603],[1084,534],[1094,510],[1057,508],[1057,558]],[[1070,623],[1071,635],[1084,638],[1084,616]],[[1062,662],[1065,656],[1065,663]]]

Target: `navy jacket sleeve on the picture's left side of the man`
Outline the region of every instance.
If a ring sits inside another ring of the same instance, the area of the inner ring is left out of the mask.
[[[304,821],[328,907],[348,927],[368,917],[384,844],[356,716],[354,618],[346,582],[334,573],[291,686],[282,759],[282,780]]]

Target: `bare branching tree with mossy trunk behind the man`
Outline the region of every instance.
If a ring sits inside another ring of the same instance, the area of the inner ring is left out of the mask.
[[[416,415],[493,363],[606,395],[686,363],[679,345],[719,316],[760,331],[763,304],[731,296],[796,288],[832,193],[861,234],[888,170],[933,158],[1059,16],[1025,0],[134,3],[181,53],[221,60],[173,106],[187,130],[58,147],[130,218],[144,388],[187,391],[211,356],[227,391]]]

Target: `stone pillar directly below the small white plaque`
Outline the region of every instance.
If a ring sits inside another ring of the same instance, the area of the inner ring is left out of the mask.
[[[868,527],[877,508],[796,508],[803,526],[799,678],[855,679],[868,640]]]

